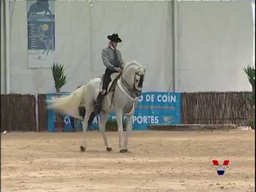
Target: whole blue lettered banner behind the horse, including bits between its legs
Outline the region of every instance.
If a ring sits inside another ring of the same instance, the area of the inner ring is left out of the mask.
[[[63,93],[65,94],[65,93]],[[66,93],[67,94],[67,93]],[[46,99],[51,100],[55,94],[46,94]],[[180,124],[181,94],[171,92],[146,92],[142,93],[135,107],[132,117],[133,130],[148,130],[149,125]],[[72,131],[70,117],[65,116],[65,131]],[[91,130],[98,130],[98,116],[94,118]],[[109,119],[115,119],[115,113]],[[54,132],[55,112],[48,111],[48,131]],[[125,119],[125,117],[124,117]],[[81,121],[75,120],[75,127],[81,127]]]

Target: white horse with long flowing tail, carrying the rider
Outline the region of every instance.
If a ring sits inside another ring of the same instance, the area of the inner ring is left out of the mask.
[[[119,148],[121,153],[127,152],[128,137],[132,131],[132,116],[134,106],[142,92],[143,77],[146,69],[138,62],[131,61],[124,66],[121,77],[117,80],[115,91],[109,90],[114,77],[119,74],[115,73],[111,76],[112,81],[108,86],[108,94],[102,102],[102,114],[99,122],[99,129],[102,133],[103,141],[105,142],[107,151],[111,151],[109,140],[105,132],[105,126],[108,119],[108,114],[116,111],[116,121],[119,132]],[[82,100],[85,105],[85,118],[83,121],[83,132],[86,132],[88,120],[94,110],[94,103],[100,91],[101,79],[93,78],[86,85],[79,87],[76,91],[66,97],[55,98],[51,100],[52,110],[65,113],[67,115],[79,118],[78,106]],[[113,97],[113,98],[112,98]],[[111,102],[112,101],[112,102]],[[128,111],[128,113],[126,113]],[[123,115],[127,117],[126,131],[123,130]],[[85,134],[83,134],[81,150],[86,148]]]

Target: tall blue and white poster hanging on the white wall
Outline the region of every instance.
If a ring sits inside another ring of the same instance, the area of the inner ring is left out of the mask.
[[[50,68],[54,61],[54,2],[27,0],[29,68]]]

